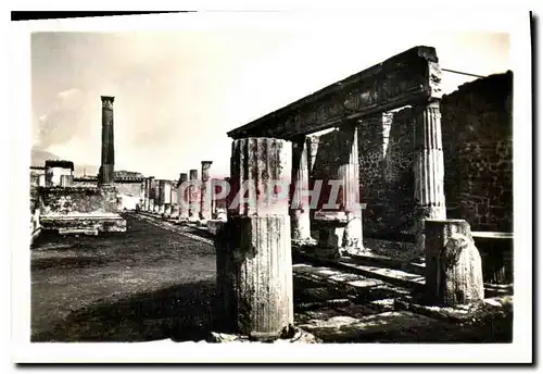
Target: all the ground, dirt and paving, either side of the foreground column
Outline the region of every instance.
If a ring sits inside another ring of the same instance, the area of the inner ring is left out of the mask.
[[[40,237],[31,251],[34,341],[200,340],[212,326],[215,253],[198,230],[126,214],[106,237]],[[377,270],[379,271],[379,269]],[[323,341],[509,341],[512,313],[458,323],[394,308],[413,294],[294,258],[295,323]]]

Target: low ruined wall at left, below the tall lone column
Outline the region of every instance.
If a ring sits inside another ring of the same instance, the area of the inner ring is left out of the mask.
[[[114,189],[89,187],[39,187],[41,215],[112,213],[117,211]]]

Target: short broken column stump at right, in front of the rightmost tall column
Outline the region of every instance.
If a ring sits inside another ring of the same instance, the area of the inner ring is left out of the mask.
[[[454,307],[484,298],[481,257],[464,220],[426,220],[426,297]]]

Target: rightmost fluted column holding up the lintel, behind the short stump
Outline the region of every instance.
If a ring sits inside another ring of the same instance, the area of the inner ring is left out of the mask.
[[[445,220],[444,162],[439,101],[415,109],[415,235],[421,253],[425,220]]]

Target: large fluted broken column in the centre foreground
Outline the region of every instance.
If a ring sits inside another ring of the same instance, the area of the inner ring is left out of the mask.
[[[288,141],[272,138],[232,147],[232,203],[217,241],[217,315],[226,329],[254,339],[276,338],[293,324],[288,200],[273,183],[289,182],[289,150]]]

